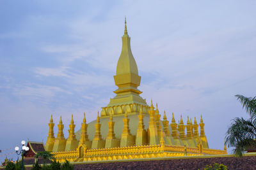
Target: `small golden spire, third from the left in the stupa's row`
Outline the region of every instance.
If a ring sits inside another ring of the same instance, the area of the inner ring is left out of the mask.
[[[67,138],[67,143],[66,143],[66,148],[65,150],[76,150],[78,146],[78,141],[76,139],[76,134],[75,134],[75,127],[74,125],[74,120],[73,120],[73,114],[71,117],[70,125],[69,125],[69,130],[68,130],[68,138]]]

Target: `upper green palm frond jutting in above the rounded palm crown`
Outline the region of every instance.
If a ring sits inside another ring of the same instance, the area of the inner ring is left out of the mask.
[[[243,108],[251,117],[256,117],[256,96],[244,97],[243,95],[236,95],[237,100],[243,105]]]

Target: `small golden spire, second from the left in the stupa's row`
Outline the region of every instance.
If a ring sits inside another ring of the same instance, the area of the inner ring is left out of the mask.
[[[58,134],[57,134],[57,138],[55,139],[52,152],[61,152],[65,150],[66,139],[64,138],[63,128],[64,128],[64,125],[62,124],[62,120],[60,117],[60,123],[58,124]]]

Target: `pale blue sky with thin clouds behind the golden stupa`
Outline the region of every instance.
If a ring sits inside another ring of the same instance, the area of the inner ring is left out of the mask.
[[[20,141],[46,141],[62,116],[80,128],[109,103],[124,17],[147,103],[200,121],[224,147],[239,101],[256,96],[256,1],[0,1],[0,161]],[[231,153],[231,148],[228,148]]]

